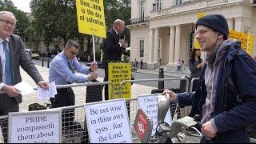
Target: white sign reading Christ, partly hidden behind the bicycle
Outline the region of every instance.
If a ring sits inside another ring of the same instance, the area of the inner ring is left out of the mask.
[[[151,135],[154,135],[156,127],[158,126],[158,95],[152,94],[138,96],[138,106],[145,110],[146,114],[148,114],[152,119],[153,130]],[[172,119],[170,115],[170,109],[166,114],[165,122],[171,126]]]

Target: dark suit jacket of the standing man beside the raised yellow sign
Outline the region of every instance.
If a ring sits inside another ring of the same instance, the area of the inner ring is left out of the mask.
[[[121,61],[123,47],[119,45],[119,35],[114,29],[106,32],[106,39],[104,39],[104,64],[110,61]]]

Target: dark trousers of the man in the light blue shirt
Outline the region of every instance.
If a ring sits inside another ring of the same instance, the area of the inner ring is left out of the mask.
[[[72,88],[57,89],[55,98],[50,98],[52,108],[74,106],[74,91]],[[70,130],[74,126],[74,109],[62,111],[62,128]]]

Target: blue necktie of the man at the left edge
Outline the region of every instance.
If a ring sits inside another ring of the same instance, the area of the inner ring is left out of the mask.
[[[12,86],[13,85],[13,74],[10,66],[10,52],[7,49],[7,41],[3,42],[3,50],[6,55],[6,66],[5,66],[5,73],[6,73],[6,84]]]

